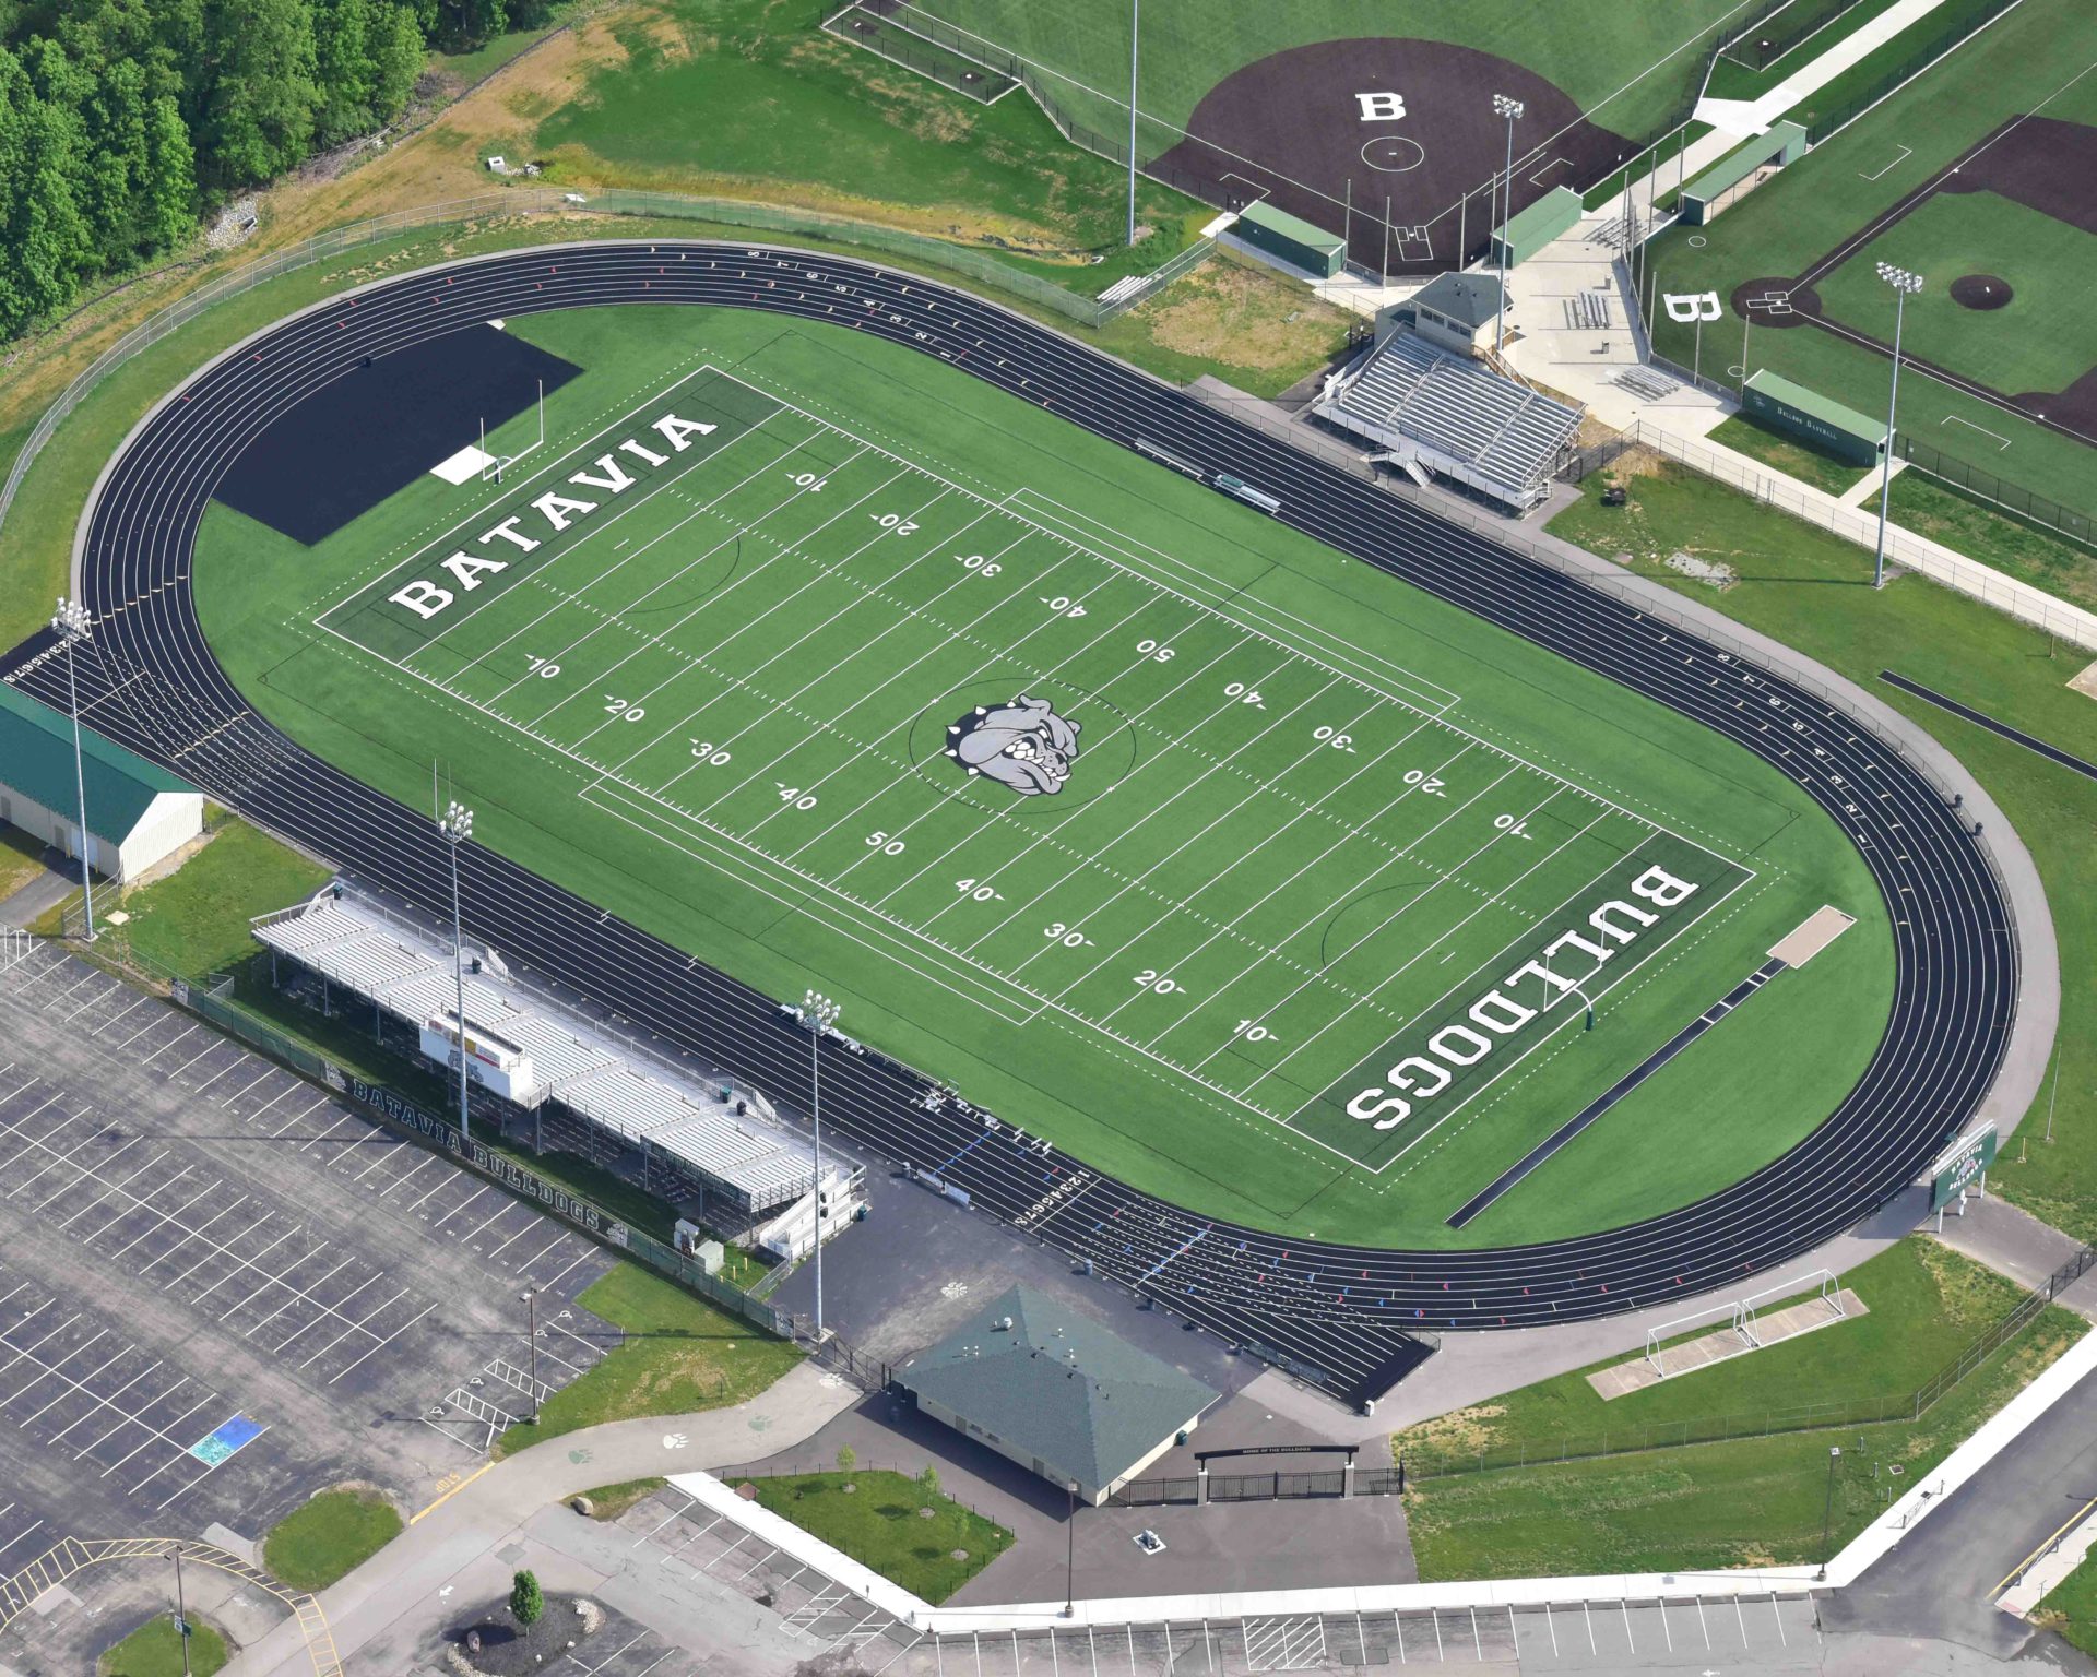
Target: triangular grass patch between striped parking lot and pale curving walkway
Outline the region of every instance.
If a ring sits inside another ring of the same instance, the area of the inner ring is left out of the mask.
[[[784,1340],[637,1264],[619,1264],[591,1281],[577,1304],[625,1340],[547,1398],[535,1423],[497,1438],[497,1457],[604,1421],[728,1409],[755,1398],[801,1360]]]

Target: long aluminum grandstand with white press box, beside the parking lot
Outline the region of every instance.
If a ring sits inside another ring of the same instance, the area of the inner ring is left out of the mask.
[[[457,1065],[453,958],[440,935],[336,889],[260,916],[254,935],[294,977],[319,979],[331,1010],[356,996],[388,1042]],[[755,1088],[702,1080],[524,989],[491,950],[470,948],[468,958],[474,1105],[487,1101],[505,1132],[606,1161],[625,1155],[644,1186],[730,1237],[761,1241],[753,1224],[788,1222],[809,1197],[814,1149],[778,1124]],[[826,1159],[824,1176],[833,1205],[849,1197],[839,1163]]]

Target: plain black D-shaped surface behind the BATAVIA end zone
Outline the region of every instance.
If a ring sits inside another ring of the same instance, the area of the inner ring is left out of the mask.
[[[308,547],[539,405],[581,367],[487,321],[394,352],[365,350],[279,413],[218,480],[218,499]]]

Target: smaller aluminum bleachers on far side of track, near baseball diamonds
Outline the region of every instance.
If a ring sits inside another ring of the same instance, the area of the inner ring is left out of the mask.
[[[1434,472],[1527,511],[1550,495],[1581,409],[1447,354],[1399,327],[1353,371],[1336,373],[1317,417],[1380,444],[1380,459],[1426,482]]]

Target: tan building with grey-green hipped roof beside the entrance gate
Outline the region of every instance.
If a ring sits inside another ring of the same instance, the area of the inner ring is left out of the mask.
[[[1032,1287],[895,1371],[923,1413],[1088,1505],[1181,1442],[1216,1392]]]

